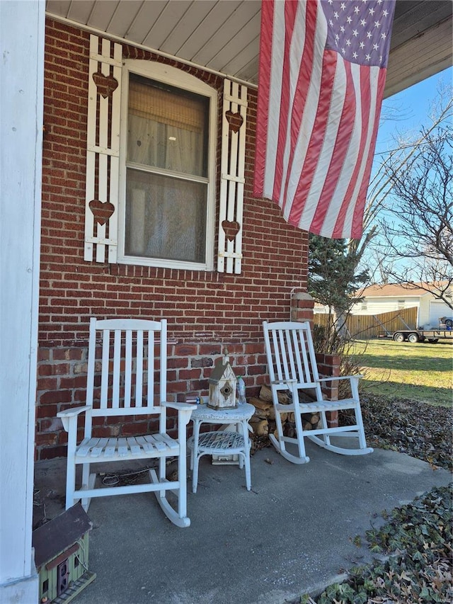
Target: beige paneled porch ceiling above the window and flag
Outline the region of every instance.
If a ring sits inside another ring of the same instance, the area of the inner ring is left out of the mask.
[[[60,21],[258,84],[260,0],[47,0]],[[452,2],[397,0],[386,96],[452,65]]]

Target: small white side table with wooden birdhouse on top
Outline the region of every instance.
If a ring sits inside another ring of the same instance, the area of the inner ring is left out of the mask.
[[[193,421],[193,436],[188,440],[190,448],[190,469],[192,475],[192,492],[197,492],[198,462],[202,455],[238,455],[239,467],[246,469],[246,487],[251,489],[250,448],[248,438],[248,420],[255,413],[255,407],[245,403],[236,409],[211,409],[206,404],[197,405],[190,419]],[[226,430],[206,432],[200,435],[202,423],[235,424],[236,432]]]

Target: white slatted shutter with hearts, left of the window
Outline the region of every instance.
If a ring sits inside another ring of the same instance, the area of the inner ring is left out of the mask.
[[[86,144],[86,261],[117,261],[122,47],[90,36]]]

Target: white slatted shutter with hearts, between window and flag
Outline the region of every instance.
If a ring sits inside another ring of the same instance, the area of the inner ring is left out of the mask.
[[[219,273],[241,273],[247,87],[224,80],[219,210]]]

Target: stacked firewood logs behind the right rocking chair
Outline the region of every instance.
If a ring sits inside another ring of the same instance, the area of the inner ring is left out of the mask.
[[[278,392],[278,401],[282,405],[290,404],[291,397],[289,396],[289,392]],[[255,407],[255,413],[250,420],[250,425],[253,428],[253,435],[258,438],[263,438],[270,433],[274,434],[275,438],[277,438],[275,410],[270,387],[262,386],[259,397],[251,397],[248,399],[248,402]],[[305,402],[307,402],[307,400]],[[289,411],[287,414],[282,413],[280,414],[280,418],[282,420],[283,434],[290,438],[294,437],[296,434],[294,412]],[[318,428],[320,419],[319,414],[302,414],[302,426],[304,430],[314,430],[315,428]]]

